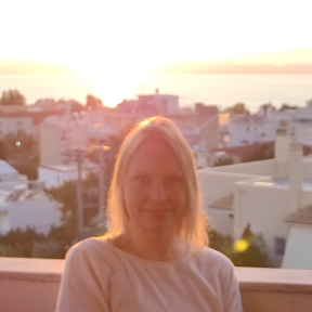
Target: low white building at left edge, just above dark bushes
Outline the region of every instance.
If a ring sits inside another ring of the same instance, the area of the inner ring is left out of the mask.
[[[17,184],[11,192],[0,191],[0,234],[34,227],[48,234],[61,225],[57,203],[50,200],[40,184]]]

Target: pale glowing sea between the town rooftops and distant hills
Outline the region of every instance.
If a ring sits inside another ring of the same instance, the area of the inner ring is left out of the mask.
[[[312,75],[310,74],[141,75],[132,80],[128,79],[126,89],[125,83],[119,89],[118,79],[114,81],[115,86],[112,88],[106,83],[107,80],[103,83],[101,81],[94,83],[94,79],[83,75],[2,75],[0,92],[17,89],[25,95],[28,104],[47,98],[75,99],[83,104],[87,94],[99,96],[99,86],[101,86],[100,98],[104,105],[114,106],[122,99],[135,99],[135,94],[150,94],[158,89],[159,93],[179,95],[181,107],[202,102],[207,105],[218,105],[223,109],[239,102],[245,103],[251,113],[258,112],[265,103],[272,103],[277,108],[283,104],[302,107],[307,100],[312,99]],[[115,90],[116,100],[105,103],[105,92],[112,93],[112,89]]]

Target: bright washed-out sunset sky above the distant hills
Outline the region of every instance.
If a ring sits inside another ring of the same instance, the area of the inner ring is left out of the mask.
[[[311,9],[310,0],[2,1],[0,61],[113,80],[183,61],[312,64]]]

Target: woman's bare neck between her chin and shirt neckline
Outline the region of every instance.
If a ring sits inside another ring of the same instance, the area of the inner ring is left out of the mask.
[[[128,244],[120,249],[133,256],[153,261],[170,261],[187,252],[187,244],[181,242],[174,233],[130,233]]]

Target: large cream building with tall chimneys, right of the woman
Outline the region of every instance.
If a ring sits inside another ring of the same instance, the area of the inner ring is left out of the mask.
[[[277,129],[274,159],[202,169],[198,176],[203,207],[214,230],[238,239],[250,223],[253,232],[262,233],[276,266],[283,262],[283,268],[292,268],[299,249],[311,257],[311,244],[298,237],[312,231],[312,219],[297,223],[301,222],[298,213],[312,204],[312,159],[302,158],[302,144],[290,140],[287,122]]]

